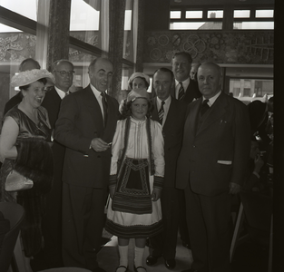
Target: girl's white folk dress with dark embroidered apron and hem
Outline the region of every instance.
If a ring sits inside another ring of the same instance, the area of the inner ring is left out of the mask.
[[[157,121],[149,119],[148,122],[150,131],[147,132],[147,119],[137,121],[130,118],[123,158],[127,120],[118,121],[113,137],[110,186],[116,186],[116,189],[113,199],[110,199],[105,228],[119,238],[148,238],[162,231],[161,201],[151,199],[153,188],[162,189],[162,126]],[[152,156],[149,156],[150,151]],[[116,201],[117,195],[120,198]],[[113,205],[115,201],[117,205]]]

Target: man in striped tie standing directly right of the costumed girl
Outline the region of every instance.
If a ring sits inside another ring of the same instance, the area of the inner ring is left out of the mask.
[[[150,238],[151,255],[148,266],[153,266],[159,257],[164,258],[165,267],[173,269],[179,225],[179,199],[181,189],[175,189],[176,161],[181,150],[182,133],[187,103],[171,97],[174,77],[171,70],[160,68],[153,74],[156,97],[152,99],[152,120],[160,121],[164,136],[165,175],[162,189],[163,232]]]

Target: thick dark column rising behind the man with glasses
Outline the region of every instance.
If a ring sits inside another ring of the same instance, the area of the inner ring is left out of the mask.
[[[71,0],[50,0],[47,67],[68,59]]]

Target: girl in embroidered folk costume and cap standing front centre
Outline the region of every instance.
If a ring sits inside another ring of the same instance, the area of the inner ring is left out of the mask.
[[[132,90],[113,137],[110,205],[106,230],[118,237],[120,265],[128,270],[129,239],[135,238],[134,271],[145,272],[146,238],[162,231],[161,190],[164,174],[162,126],[152,121],[146,90]]]

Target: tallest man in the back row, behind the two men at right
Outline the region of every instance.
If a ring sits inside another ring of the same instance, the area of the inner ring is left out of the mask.
[[[173,55],[172,60],[172,72],[175,78],[175,84],[171,90],[171,96],[177,100],[181,100],[190,103],[199,97],[201,92],[198,88],[196,81],[191,79],[191,54],[187,52],[177,52]],[[185,248],[191,248],[190,238],[188,234],[188,227],[185,216],[185,199],[184,196],[180,198],[180,235],[182,245]]]

